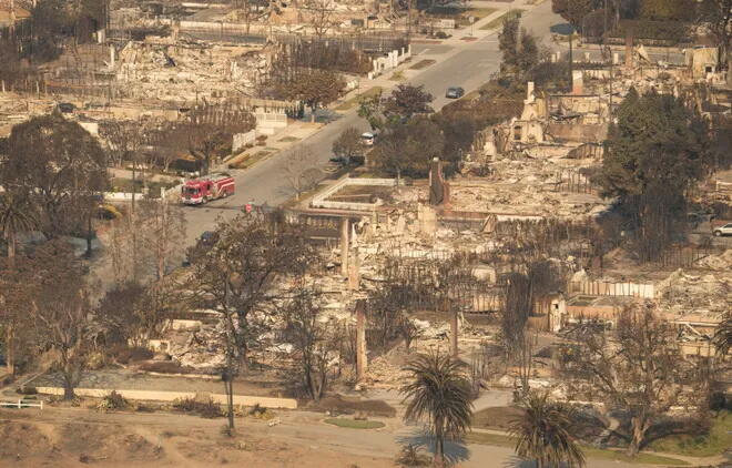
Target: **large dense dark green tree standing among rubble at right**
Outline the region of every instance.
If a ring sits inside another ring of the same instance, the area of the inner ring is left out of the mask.
[[[610,126],[598,181],[633,234],[641,261],[653,261],[683,228],[685,194],[711,166],[704,121],[672,95],[631,90]]]

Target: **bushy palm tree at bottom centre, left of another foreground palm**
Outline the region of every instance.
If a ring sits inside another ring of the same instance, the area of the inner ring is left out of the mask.
[[[445,438],[465,434],[472,417],[467,365],[439,350],[420,354],[404,370],[411,381],[399,390],[405,396],[405,420],[428,421],[435,438],[435,462],[445,462]]]

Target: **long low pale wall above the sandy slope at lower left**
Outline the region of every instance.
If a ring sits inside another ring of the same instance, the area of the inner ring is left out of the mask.
[[[61,387],[35,387],[39,394],[43,395],[63,395]],[[102,398],[112,391],[111,388],[77,388],[75,394],[82,397]],[[195,391],[153,391],[153,390],[119,390],[118,394],[126,399],[150,400],[150,401],[174,401],[182,398],[195,398]],[[217,404],[226,404],[226,395],[211,394],[211,399]],[[263,408],[274,409],[297,409],[297,400],[293,398],[272,398],[234,395],[234,405],[254,406],[260,405]]]

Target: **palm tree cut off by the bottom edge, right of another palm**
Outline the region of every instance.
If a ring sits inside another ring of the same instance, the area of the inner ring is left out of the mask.
[[[584,466],[584,455],[570,431],[571,409],[547,400],[548,394],[531,393],[523,399],[523,417],[511,421],[509,434],[516,437],[516,454],[537,460],[538,468]]]

